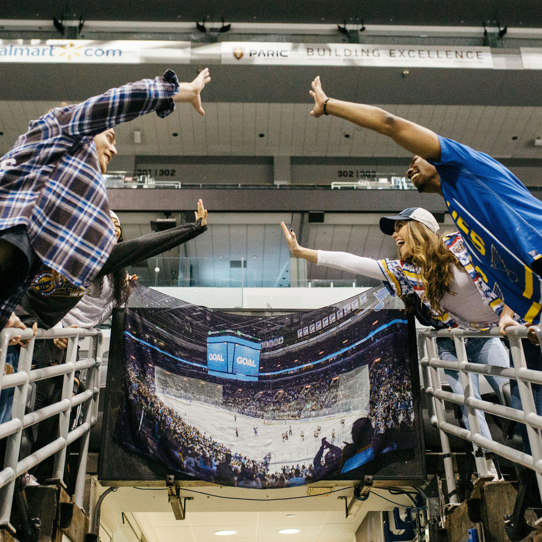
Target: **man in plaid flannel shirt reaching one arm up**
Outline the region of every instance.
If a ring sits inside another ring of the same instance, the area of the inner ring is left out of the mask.
[[[112,88],[30,122],[0,158],[0,329],[22,327],[13,308],[42,263],[87,286],[115,241],[102,173],[117,154],[113,126],[189,102],[204,115],[205,68],[191,83],[171,70]]]

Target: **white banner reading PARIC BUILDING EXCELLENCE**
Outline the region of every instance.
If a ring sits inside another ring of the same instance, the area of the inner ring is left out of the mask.
[[[489,47],[222,42],[223,64],[493,68]]]

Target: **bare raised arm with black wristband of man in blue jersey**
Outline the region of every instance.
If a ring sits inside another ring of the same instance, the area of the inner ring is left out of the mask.
[[[322,90],[320,76],[312,82],[312,90],[309,94],[314,98],[314,108],[311,111],[313,117],[320,117],[324,114],[324,102],[326,103],[326,113],[334,115],[341,119],[349,120],[358,126],[368,128],[383,135],[388,135],[403,149],[417,154],[426,160],[440,160],[440,143],[435,132],[424,128],[410,120],[396,117],[379,107],[353,104],[328,99]],[[326,102],[326,100],[328,100]]]

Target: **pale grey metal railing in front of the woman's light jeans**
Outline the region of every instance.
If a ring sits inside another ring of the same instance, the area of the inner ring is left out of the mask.
[[[540,435],[542,416],[537,414],[531,389],[531,384],[542,384],[542,371],[527,368],[521,339],[527,338],[528,329],[537,337],[539,344],[542,344],[542,333],[539,327],[533,326],[527,328],[518,326],[508,327],[506,330],[506,337],[509,342],[509,350],[512,358],[510,367],[470,363],[467,359],[464,339],[469,337],[499,337],[499,332],[496,328],[485,332],[423,330],[418,334],[418,352],[420,353],[420,363],[422,366],[423,388],[428,399],[429,422],[439,430],[444,470],[446,472],[446,482],[451,504],[457,503],[458,500],[448,435],[455,435],[472,442],[474,451],[477,448],[485,449],[534,470],[539,491],[542,494],[542,437]],[[457,362],[445,361],[439,358],[436,344],[437,337],[453,339]],[[443,390],[439,369],[459,371],[463,395]],[[475,398],[471,380],[473,374],[491,375],[515,380],[518,385],[522,410]],[[446,421],[444,401],[466,406],[470,429],[464,429]],[[476,416],[477,410],[525,424],[532,455],[483,437],[480,434],[480,425]],[[475,454],[475,462],[480,476],[491,476],[483,455]]]

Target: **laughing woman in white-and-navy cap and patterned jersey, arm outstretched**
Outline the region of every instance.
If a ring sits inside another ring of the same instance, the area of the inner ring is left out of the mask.
[[[294,256],[382,280],[392,295],[407,301],[425,325],[466,330],[499,326],[500,313],[505,305],[470,262],[461,234],[455,232],[440,236],[437,221],[425,209],[414,207],[396,216],[380,218],[380,229],[396,241],[398,260],[372,260],[345,252],[307,249],[299,246],[294,232],[288,230],[283,222],[281,226]],[[524,323],[517,314],[513,318],[520,324]],[[500,339],[469,338],[465,343],[470,362],[509,366],[508,353]],[[438,338],[437,345],[441,359],[457,361],[451,339]],[[445,372],[454,393],[463,395],[459,372]],[[480,398],[478,375],[472,374],[471,377],[474,396]],[[506,381],[495,376],[486,376],[486,380],[498,394],[499,385]],[[469,428],[466,409],[463,407],[462,410],[463,422]],[[476,415],[481,435],[491,439],[484,413],[477,410]],[[493,472],[493,464],[489,461],[488,467]]]

